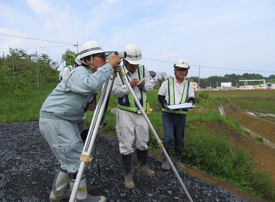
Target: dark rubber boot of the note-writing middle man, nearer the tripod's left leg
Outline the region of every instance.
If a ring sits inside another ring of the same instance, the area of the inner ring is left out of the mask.
[[[123,172],[124,172],[124,185],[127,189],[134,188],[132,179],[132,154],[121,154]]]

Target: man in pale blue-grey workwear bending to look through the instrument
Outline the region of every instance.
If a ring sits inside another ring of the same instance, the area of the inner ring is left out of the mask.
[[[112,55],[107,64],[103,49],[96,41],[81,46],[79,60],[82,65],[71,71],[51,92],[40,110],[39,128],[53,154],[61,163],[52,184],[50,201],[69,198],[80,166],[80,155],[84,148],[77,123],[84,116],[84,109],[97,90],[111,78],[114,67],[121,62]],[[89,105],[95,109],[95,103]],[[77,202],[103,202],[104,196],[92,196],[87,192],[86,177],[82,176],[76,195]]]

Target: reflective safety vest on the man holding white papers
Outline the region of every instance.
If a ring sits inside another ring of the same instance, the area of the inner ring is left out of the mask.
[[[168,105],[174,105],[175,103],[175,86],[174,86],[174,77],[168,78]],[[189,93],[189,85],[190,82],[185,80],[183,93],[181,97],[181,102],[177,104],[184,104],[188,100],[188,93]],[[163,111],[170,112],[170,113],[181,113],[186,114],[187,111],[183,109],[163,109]]]

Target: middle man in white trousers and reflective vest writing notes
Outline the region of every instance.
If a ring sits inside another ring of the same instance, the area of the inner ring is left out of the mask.
[[[126,58],[123,59],[124,65],[122,65],[121,71],[126,75],[137,99],[146,110],[146,91],[152,91],[155,83],[148,69],[140,65],[143,62],[140,47],[130,43],[124,47],[124,51]],[[137,171],[147,176],[155,176],[155,172],[147,167],[149,127],[121,74],[115,78],[112,94],[118,100],[116,130],[124,169],[124,184],[127,189],[132,189],[134,182],[131,161],[134,139],[136,140]]]

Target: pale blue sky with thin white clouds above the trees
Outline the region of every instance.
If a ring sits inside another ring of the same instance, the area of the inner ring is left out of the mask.
[[[106,51],[135,43],[143,65],[169,76],[180,58],[188,76],[275,74],[274,0],[0,0],[0,19],[2,56],[12,47],[60,61],[92,40]]]

